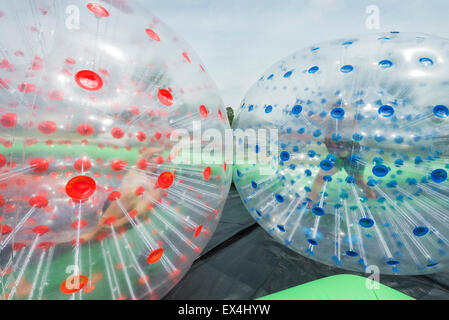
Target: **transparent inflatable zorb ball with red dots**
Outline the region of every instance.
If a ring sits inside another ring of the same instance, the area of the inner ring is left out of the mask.
[[[163,297],[231,181],[176,142],[228,128],[199,58],[130,1],[2,1],[0,32],[1,297]]]

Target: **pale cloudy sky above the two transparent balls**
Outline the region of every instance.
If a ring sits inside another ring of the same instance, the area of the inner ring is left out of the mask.
[[[447,0],[137,1],[193,47],[233,108],[266,69],[314,43],[389,31],[449,38]]]

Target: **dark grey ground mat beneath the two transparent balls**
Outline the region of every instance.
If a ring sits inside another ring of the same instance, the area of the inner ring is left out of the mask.
[[[255,223],[232,187],[211,241],[165,299],[255,299],[342,273],[364,276],[315,262],[278,243]],[[449,299],[449,272],[381,275],[380,282],[416,299]]]

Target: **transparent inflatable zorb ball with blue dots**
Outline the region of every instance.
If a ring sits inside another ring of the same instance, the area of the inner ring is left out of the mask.
[[[278,130],[264,172],[235,166],[251,215],[287,247],[328,265],[444,270],[448,61],[447,40],[392,32],[310,46],[268,69],[234,122]],[[261,148],[240,140],[237,150]]]

